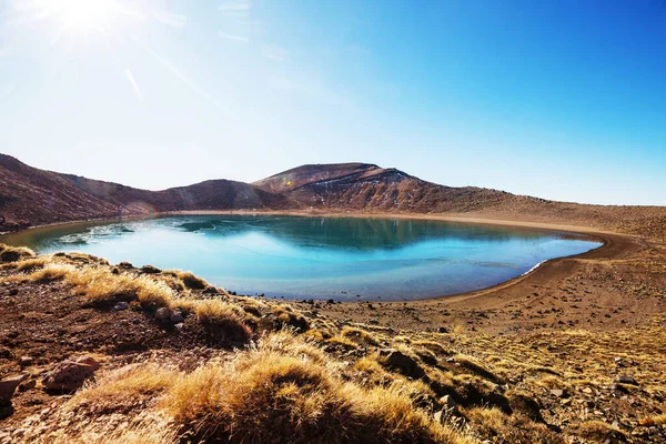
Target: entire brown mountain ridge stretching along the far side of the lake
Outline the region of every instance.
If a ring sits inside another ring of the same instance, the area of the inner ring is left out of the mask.
[[[476,186],[445,186],[372,163],[307,164],[254,183],[219,179],[148,191],[39,170],[0,154],[0,231],[204,210],[464,214],[666,236],[663,206],[587,205]]]

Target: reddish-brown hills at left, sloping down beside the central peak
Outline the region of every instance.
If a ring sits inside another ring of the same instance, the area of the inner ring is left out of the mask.
[[[43,171],[0,154],[0,231],[164,211],[280,210],[293,206],[283,195],[243,182],[211,180],[148,191]]]

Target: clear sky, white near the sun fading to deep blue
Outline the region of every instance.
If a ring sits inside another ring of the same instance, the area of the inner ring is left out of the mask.
[[[150,190],[360,161],[666,205],[666,1],[0,0],[0,134]]]

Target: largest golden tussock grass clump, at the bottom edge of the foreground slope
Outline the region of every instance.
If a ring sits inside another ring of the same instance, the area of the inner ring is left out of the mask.
[[[276,342],[275,342],[276,341]],[[467,443],[414,407],[404,387],[363,390],[264,339],[225,365],[180,379],[162,406],[199,440]],[[272,344],[272,345],[271,345]]]

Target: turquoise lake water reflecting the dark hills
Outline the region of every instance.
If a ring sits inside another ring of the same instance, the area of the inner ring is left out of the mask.
[[[0,238],[42,253],[190,270],[239,294],[402,301],[488,287],[595,249],[571,233],[423,220],[188,215]]]

